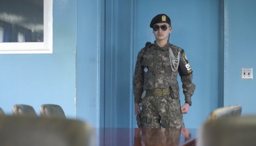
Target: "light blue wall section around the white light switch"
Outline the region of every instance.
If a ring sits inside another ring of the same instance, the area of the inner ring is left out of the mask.
[[[256,114],[256,1],[225,0],[224,105],[242,105],[242,114]],[[253,68],[254,79],[242,80],[241,68]]]

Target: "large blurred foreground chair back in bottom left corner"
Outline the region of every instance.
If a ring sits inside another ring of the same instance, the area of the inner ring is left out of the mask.
[[[40,116],[0,118],[0,145],[87,146],[92,143],[90,124],[75,119]]]

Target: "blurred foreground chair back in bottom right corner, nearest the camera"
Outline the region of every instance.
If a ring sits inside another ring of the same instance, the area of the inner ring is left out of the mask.
[[[221,117],[203,125],[201,145],[255,145],[256,116]]]

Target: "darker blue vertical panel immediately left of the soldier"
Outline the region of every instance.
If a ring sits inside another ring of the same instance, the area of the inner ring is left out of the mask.
[[[132,39],[135,3],[106,2],[105,126],[132,127]]]

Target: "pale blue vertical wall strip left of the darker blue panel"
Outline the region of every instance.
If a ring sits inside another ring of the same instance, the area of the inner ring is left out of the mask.
[[[77,1],[77,118],[104,125],[105,1]]]

